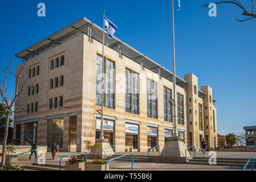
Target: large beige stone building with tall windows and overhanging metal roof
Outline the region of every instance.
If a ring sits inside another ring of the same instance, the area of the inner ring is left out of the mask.
[[[27,64],[21,79],[25,89],[15,109],[31,97],[26,110],[14,115],[15,142],[31,141],[36,123],[38,145],[50,148],[55,142],[60,151],[74,145],[76,151],[84,151],[88,141],[95,143],[100,135],[104,63],[108,90],[104,94],[104,138],[116,152],[131,148],[146,152],[156,145],[162,150],[173,130],[173,109],[168,102],[173,97],[172,72],[117,38],[104,46],[103,61],[102,34],[101,28],[82,18],[17,54]],[[214,148],[217,118],[212,88],[199,90],[193,74],[184,78],[177,77],[176,86],[178,135],[198,150],[202,138]]]

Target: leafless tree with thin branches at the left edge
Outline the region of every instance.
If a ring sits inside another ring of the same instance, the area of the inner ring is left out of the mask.
[[[4,137],[3,137],[3,149],[2,149],[2,163],[1,163],[2,167],[5,166],[6,143],[7,143],[7,137],[8,137],[10,115],[12,113],[17,112],[17,111],[25,110],[26,107],[27,107],[27,103],[29,102],[30,97],[31,97],[31,94],[30,94],[30,96],[27,98],[27,100],[26,100],[26,102],[23,106],[20,106],[18,108],[15,108],[15,110],[13,110],[13,106],[15,104],[15,101],[20,96],[20,94],[22,93],[22,90],[25,88],[25,86],[27,84],[26,81],[23,81],[21,83],[22,73],[25,69],[26,64],[27,64],[27,61],[22,60],[22,64],[19,65],[19,68],[18,68],[17,72],[15,73],[14,69],[11,68],[11,58],[10,58],[10,61],[7,62],[6,69],[4,70],[4,69],[1,68],[1,71],[0,71],[0,75],[1,75],[0,96],[2,97],[2,105],[4,107],[5,115],[6,115],[5,134],[4,134]],[[13,69],[13,72],[9,71],[10,68]],[[6,90],[6,88],[7,88],[7,77],[8,77],[9,73],[11,73],[15,76],[15,90],[14,90],[13,96],[11,98],[9,98],[7,96],[7,90]],[[2,75],[3,75],[3,77],[2,77]],[[36,79],[34,80],[34,83],[31,83],[32,84],[32,89],[34,89],[34,87],[35,87],[35,82],[36,82]]]

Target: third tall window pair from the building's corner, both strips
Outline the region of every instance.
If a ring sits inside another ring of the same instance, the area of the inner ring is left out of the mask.
[[[157,119],[157,82],[147,79],[148,117]]]

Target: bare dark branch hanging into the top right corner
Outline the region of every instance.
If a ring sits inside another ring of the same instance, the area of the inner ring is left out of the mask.
[[[251,13],[249,13],[245,7],[243,7],[242,3],[241,2],[238,2],[238,1],[221,1],[221,2],[214,2],[216,5],[217,4],[221,4],[221,3],[230,3],[230,4],[233,4],[233,5],[236,5],[238,6],[240,9],[243,10],[243,13],[242,15],[243,16],[249,16],[250,18],[246,18],[246,19],[243,19],[243,20],[238,20],[237,18],[235,18],[238,22],[245,22],[246,20],[249,20],[249,19],[253,19],[253,18],[256,18],[256,14],[254,14],[254,4],[253,4],[253,0],[251,0],[251,6],[252,6],[252,10],[251,10]],[[205,3],[203,3],[204,6],[202,7],[208,7],[209,5],[206,5]]]

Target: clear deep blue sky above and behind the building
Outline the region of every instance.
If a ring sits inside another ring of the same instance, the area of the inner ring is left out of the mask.
[[[46,17],[37,16],[37,5],[46,5]],[[175,9],[178,0],[174,0]],[[175,11],[176,71],[198,76],[199,86],[213,88],[218,102],[218,133],[243,132],[256,123],[256,19],[237,22],[242,10],[218,5],[210,17],[202,3],[181,0]],[[249,0],[242,1],[251,10]],[[102,11],[118,27],[115,36],[163,67],[172,71],[172,21],[169,1],[0,1],[1,67],[13,57],[12,67],[21,63],[15,53],[46,38],[83,16],[102,27]],[[9,77],[13,93],[13,76]]]

